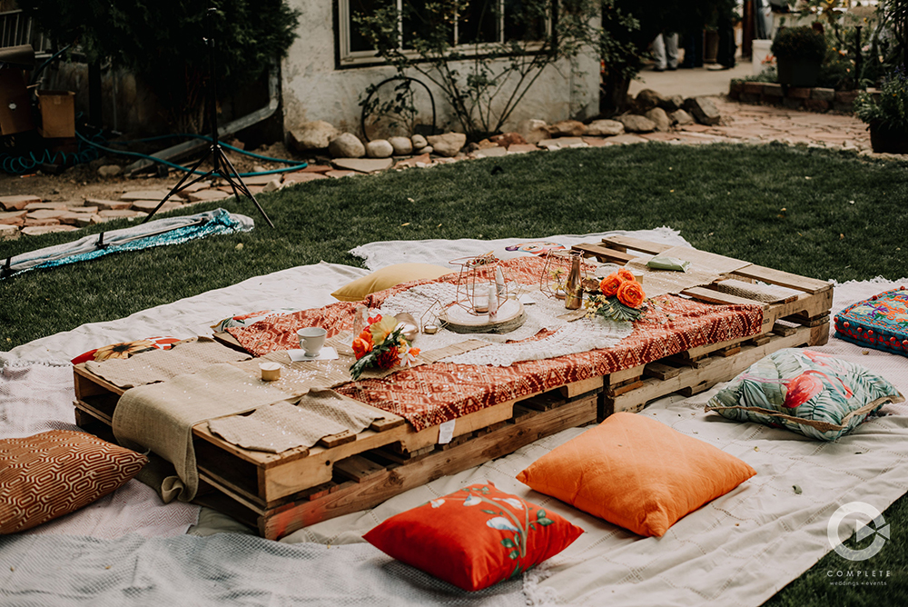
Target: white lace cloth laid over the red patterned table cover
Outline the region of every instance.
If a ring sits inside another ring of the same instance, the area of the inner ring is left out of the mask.
[[[447,306],[454,301],[456,295],[457,287],[453,284],[423,284],[389,297],[382,303],[381,312],[389,314],[407,312],[419,322],[432,303],[438,301],[443,306]],[[443,362],[506,367],[519,361],[538,361],[588,352],[597,348],[610,348],[633,331],[631,323],[602,318],[583,318],[568,323],[566,320],[558,318],[568,312],[560,300],[551,299],[538,291],[530,291],[524,297],[525,300],[528,299],[533,303],[524,304],[527,321],[515,331],[502,335],[494,333],[464,335],[441,329],[434,335],[420,333],[415,345],[422,350],[429,351],[460,343],[465,339],[479,339],[489,342],[490,345],[451,356],[443,359]],[[526,340],[543,329],[555,331],[555,333],[534,342],[505,343]]]

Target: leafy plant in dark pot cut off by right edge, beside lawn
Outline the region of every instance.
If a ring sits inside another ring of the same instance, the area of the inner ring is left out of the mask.
[[[883,80],[879,94],[862,91],[854,113],[868,124],[874,152],[908,154],[908,78],[900,65]]]

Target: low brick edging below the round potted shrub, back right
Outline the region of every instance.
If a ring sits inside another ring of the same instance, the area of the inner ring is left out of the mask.
[[[868,89],[876,93],[875,89]],[[744,104],[784,105],[808,112],[854,112],[854,99],[860,91],[836,91],[833,88],[802,88],[763,82],[732,82],[728,96]]]

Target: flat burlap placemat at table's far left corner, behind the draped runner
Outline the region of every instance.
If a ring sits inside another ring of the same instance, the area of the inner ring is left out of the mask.
[[[166,382],[177,375],[195,373],[218,363],[249,360],[247,353],[237,352],[210,337],[199,337],[173,344],[170,350],[152,350],[129,358],[88,361],[85,368],[121,388]]]

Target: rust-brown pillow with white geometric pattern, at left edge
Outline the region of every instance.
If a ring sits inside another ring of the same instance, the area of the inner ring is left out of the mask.
[[[0,440],[0,534],[87,506],[146,463],[142,453],[70,430]]]

